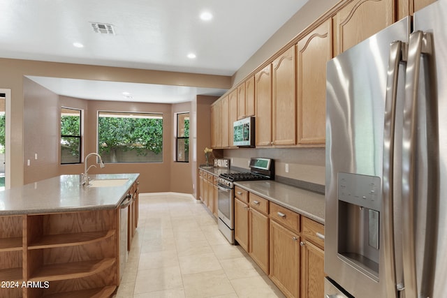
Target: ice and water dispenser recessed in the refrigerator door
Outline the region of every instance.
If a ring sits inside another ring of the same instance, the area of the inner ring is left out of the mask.
[[[338,173],[338,255],[379,279],[379,177]]]

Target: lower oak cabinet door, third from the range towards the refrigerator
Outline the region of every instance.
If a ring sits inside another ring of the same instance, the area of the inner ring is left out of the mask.
[[[275,221],[270,221],[270,278],[286,296],[299,297],[300,240]]]

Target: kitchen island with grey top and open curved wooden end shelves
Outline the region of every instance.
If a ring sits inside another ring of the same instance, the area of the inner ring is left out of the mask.
[[[62,175],[0,192],[0,297],[112,295],[123,251],[121,204],[129,204],[130,241],[139,174],[90,177],[87,187],[80,175]]]

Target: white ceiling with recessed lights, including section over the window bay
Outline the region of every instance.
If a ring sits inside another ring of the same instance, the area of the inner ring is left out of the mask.
[[[0,57],[233,75],[306,2],[0,0]],[[201,20],[203,12],[212,19]],[[92,23],[111,24],[114,32],[95,33]],[[29,78],[60,95],[98,100],[179,103],[226,91]]]

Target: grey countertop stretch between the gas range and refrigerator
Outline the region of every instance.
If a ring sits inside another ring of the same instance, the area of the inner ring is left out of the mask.
[[[324,225],[324,195],[271,180],[237,181],[235,185]]]

